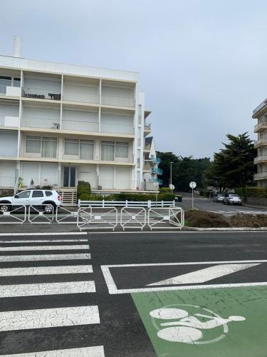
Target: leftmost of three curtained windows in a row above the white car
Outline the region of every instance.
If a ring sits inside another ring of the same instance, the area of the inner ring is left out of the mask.
[[[26,136],[26,153],[41,154],[42,157],[56,158],[57,139],[41,136]]]

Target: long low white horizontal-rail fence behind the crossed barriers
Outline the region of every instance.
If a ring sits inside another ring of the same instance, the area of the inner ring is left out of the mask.
[[[175,206],[175,201],[81,201],[78,200],[78,206],[91,207],[169,207]]]

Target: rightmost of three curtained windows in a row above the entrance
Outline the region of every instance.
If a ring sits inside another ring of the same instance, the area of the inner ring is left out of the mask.
[[[115,157],[122,159],[129,157],[129,143],[102,141],[101,146],[101,160],[114,161]]]

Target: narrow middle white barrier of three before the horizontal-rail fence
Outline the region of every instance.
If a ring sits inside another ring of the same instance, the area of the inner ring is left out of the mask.
[[[147,211],[144,207],[123,207],[120,211],[120,226],[125,228],[140,228],[141,231],[147,223]]]

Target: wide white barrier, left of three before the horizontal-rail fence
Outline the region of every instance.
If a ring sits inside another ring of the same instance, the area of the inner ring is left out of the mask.
[[[78,209],[77,226],[82,229],[112,229],[117,226],[117,208],[82,207]]]

